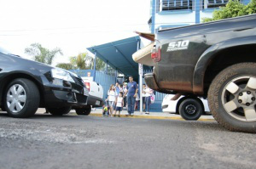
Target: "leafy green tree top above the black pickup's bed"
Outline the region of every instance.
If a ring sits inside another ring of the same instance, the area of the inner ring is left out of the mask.
[[[218,10],[214,10],[212,18],[203,18],[202,22],[209,22],[213,20],[223,20],[227,18],[233,18],[236,16],[242,16],[247,14],[256,13],[256,0],[252,0],[247,5],[244,5],[238,0],[230,0],[225,7],[220,7]]]

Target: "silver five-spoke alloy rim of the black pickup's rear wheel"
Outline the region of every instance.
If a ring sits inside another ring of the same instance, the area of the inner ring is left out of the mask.
[[[240,76],[223,89],[224,110],[239,121],[256,121],[256,76]]]

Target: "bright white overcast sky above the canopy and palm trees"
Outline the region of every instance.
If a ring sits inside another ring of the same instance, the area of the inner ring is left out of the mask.
[[[0,46],[29,58],[33,42],[61,48],[54,64],[106,42],[148,31],[150,0],[0,0]]]

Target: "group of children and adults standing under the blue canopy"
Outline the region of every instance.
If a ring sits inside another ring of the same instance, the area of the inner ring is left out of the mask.
[[[143,84],[143,111],[146,114],[149,114],[152,93],[153,90]],[[133,81],[132,76],[129,76],[127,85],[125,82],[123,85],[119,85],[118,82],[115,86],[111,85],[108,90],[108,99],[106,99],[109,106],[109,115],[116,116],[116,112],[118,111],[120,116],[120,112],[123,107],[126,107],[126,104],[127,115],[134,115],[137,98],[139,98],[139,88],[137,82]]]

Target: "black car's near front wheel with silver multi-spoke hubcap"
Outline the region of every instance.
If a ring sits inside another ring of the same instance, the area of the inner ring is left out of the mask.
[[[25,118],[34,115],[38,110],[40,93],[34,82],[18,78],[9,83],[3,101],[8,115]]]

